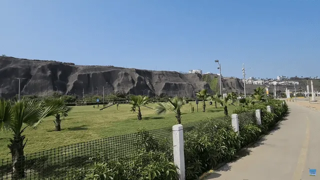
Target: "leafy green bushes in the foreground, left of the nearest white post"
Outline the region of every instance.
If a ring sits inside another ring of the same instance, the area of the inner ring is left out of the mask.
[[[88,169],[72,169],[67,179],[76,180],[164,180],[178,179],[176,166],[173,164],[172,149],[166,141],[159,142],[148,131],[137,132],[136,156],[109,160],[103,153],[90,158]]]

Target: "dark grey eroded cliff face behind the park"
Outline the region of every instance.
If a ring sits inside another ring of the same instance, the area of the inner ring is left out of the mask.
[[[186,95],[194,91],[211,89],[200,74],[182,74],[175,71],[151,71],[114,66],[85,66],[57,61],[29,60],[0,56],[0,84],[2,96],[21,94],[47,95],[53,91],[62,93],[102,94],[120,92],[131,94]]]

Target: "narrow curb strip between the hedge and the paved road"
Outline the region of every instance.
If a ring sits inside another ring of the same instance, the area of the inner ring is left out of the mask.
[[[287,115],[287,114],[285,114],[285,115],[282,117],[281,120],[275,122],[275,124],[272,126],[272,129],[274,129],[274,127],[277,126],[277,125],[283,120],[283,118],[284,118],[286,115]],[[272,131],[272,129],[271,129],[270,131]],[[256,142],[258,142],[262,137],[269,135],[269,134],[270,134],[270,131],[268,131],[266,134],[260,135],[256,141],[250,142],[250,143],[247,144],[245,147],[240,148],[240,150],[238,150],[238,151],[234,154],[234,156],[233,156],[234,158],[233,158],[232,160],[234,160],[234,159],[236,159],[236,158],[239,157],[239,156],[237,155],[237,154],[239,154],[239,152],[241,152],[242,150],[245,150],[245,149],[247,149],[247,148],[249,148],[249,147],[252,147],[252,146],[253,146]],[[207,176],[209,176],[211,173],[213,173],[214,170],[222,167],[223,165],[225,165],[225,164],[228,163],[228,162],[229,162],[229,161],[223,161],[223,162],[218,163],[216,166],[214,166],[214,167],[213,167],[211,170],[209,170],[208,172],[204,172],[204,173],[199,177],[199,179],[200,179],[200,180],[204,180],[204,178],[207,177]]]

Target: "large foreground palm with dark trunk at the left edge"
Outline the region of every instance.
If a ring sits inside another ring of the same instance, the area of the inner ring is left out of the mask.
[[[11,131],[13,137],[10,139],[8,148],[12,156],[12,179],[25,176],[25,157],[23,148],[27,140],[22,135],[26,127],[36,128],[43,118],[60,112],[62,106],[45,106],[41,101],[26,100],[11,102],[0,99],[0,130]]]

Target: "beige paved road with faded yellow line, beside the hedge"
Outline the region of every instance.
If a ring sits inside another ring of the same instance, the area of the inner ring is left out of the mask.
[[[278,128],[247,149],[249,155],[217,169],[206,179],[320,179],[320,112],[288,102]],[[308,168],[317,169],[309,176]]]

